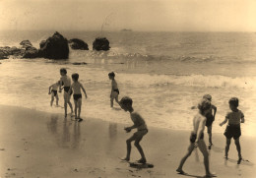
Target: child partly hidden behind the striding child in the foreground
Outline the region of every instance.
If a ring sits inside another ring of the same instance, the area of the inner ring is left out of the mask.
[[[210,102],[212,102],[212,95],[210,94],[205,94],[203,96],[204,99],[208,99]],[[209,112],[206,115],[206,127],[207,127],[207,133],[209,136],[209,145],[208,148],[211,149],[213,142],[212,142],[212,128],[213,128],[213,122],[215,121],[215,115],[217,112],[217,107],[213,104],[211,104],[211,112]],[[213,114],[213,110],[214,110],[214,114]]]

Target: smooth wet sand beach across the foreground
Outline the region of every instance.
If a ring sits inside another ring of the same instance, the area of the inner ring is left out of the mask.
[[[110,110],[109,112],[120,112]],[[184,165],[187,176],[175,172],[189,145],[189,131],[149,128],[141,145],[154,168],[135,169],[119,157],[126,153],[131,136],[124,125],[84,118],[81,123],[68,116],[0,105],[0,177],[203,177],[203,157],[195,149]],[[121,114],[121,112],[120,112]],[[123,112],[123,114],[125,114]],[[130,118],[127,117],[129,120]],[[147,118],[146,118],[147,119]],[[132,124],[132,123],[131,123]],[[213,128],[214,129],[214,128]],[[208,136],[205,134],[205,141]],[[213,135],[211,170],[218,177],[255,177],[256,138],[241,137],[245,160],[236,164],[233,141],[229,159],[224,157],[224,136]],[[132,146],[131,160],[140,156]]]

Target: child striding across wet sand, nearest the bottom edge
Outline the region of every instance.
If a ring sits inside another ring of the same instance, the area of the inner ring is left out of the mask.
[[[210,172],[209,168],[209,153],[204,141],[204,130],[206,125],[206,115],[212,111],[211,102],[207,99],[203,99],[198,104],[199,113],[194,116],[193,119],[193,131],[190,136],[190,146],[185,156],[180,160],[180,164],[176,169],[180,174],[185,174],[182,167],[186,159],[190,156],[194,148],[199,148],[204,155],[204,164],[206,170],[206,177],[213,177],[214,174]]]

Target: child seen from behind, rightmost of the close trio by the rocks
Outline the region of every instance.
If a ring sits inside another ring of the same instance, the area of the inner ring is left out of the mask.
[[[82,118],[80,118],[80,113],[81,113],[81,106],[82,106],[82,94],[81,94],[81,89],[84,91],[86,98],[87,98],[87,92],[86,89],[84,89],[83,85],[78,82],[79,79],[79,74],[75,73],[72,74],[72,80],[73,84],[71,88],[68,91],[68,94],[72,92],[72,89],[74,90],[74,103],[75,103],[75,119],[78,119],[78,122],[83,121]],[[78,109],[78,115],[77,115],[77,109]]]

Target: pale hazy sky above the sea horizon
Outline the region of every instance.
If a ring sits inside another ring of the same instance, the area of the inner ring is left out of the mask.
[[[0,0],[0,30],[256,31],[255,19],[256,0]]]

